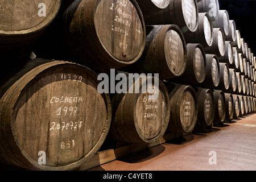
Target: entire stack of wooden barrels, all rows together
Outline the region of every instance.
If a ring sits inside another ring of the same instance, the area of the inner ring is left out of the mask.
[[[3,3],[3,163],[71,170],[105,140],[155,143],[256,111],[254,53],[217,0]]]

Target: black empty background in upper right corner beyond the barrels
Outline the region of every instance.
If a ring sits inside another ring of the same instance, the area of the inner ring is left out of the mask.
[[[220,10],[227,10],[229,19],[236,22],[241,38],[256,56],[256,8],[255,0],[219,0]]]

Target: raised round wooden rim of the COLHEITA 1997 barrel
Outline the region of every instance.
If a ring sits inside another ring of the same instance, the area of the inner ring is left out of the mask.
[[[42,61],[43,61],[43,59],[42,59]],[[29,77],[31,74],[26,73],[24,76],[22,76],[22,78],[20,78],[20,80],[18,80],[20,82],[20,84],[16,85],[16,88],[19,89],[19,90],[17,90],[18,92],[16,92],[15,98],[17,98],[17,99],[14,101],[15,104],[13,105],[13,108],[14,109],[16,108],[16,104],[19,101],[20,94],[22,94],[22,92],[24,90],[26,90],[26,88],[34,80],[34,78],[38,78],[40,75],[43,74],[43,72],[46,72],[49,69],[56,68],[56,67],[59,67],[59,65],[64,65],[64,64],[65,65],[73,65],[74,67],[79,66],[81,69],[85,68],[86,73],[90,74],[90,76],[94,76],[96,78],[95,81],[99,82],[99,81],[97,81],[96,73],[94,73],[92,70],[90,70],[89,68],[86,68],[83,65],[79,65],[79,64],[76,64],[76,63],[71,63],[69,61],[55,61],[55,60],[52,60],[52,62],[50,62],[50,64],[43,63],[43,64],[40,65],[40,66],[42,66],[42,71],[40,71],[39,69],[32,70],[32,72],[35,73],[35,75],[33,77]],[[15,84],[16,84],[16,82],[15,82]],[[111,116],[112,116],[112,108],[111,108],[111,105],[110,105],[110,96],[109,96],[109,94],[106,94],[106,93],[101,94],[101,96],[104,97],[104,102],[106,104],[105,106],[106,106],[106,111],[107,111],[105,127],[104,127],[104,134],[101,135],[101,137],[99,138],[97,143],[94,145],[92,150],[90,152],[88,152],[88,154],[83,156],[81,159],[77,160],[77,162],[74,162],[72,164],[67,164],[67,165],[64,165],[64,166],[53,167],[53,166],[40,165],[40,164],[38,164],[37,161],[32,159],[30,155],[27,154],[27,152],[26,152],[26,150],[24,150],[22,144],[20,144],[18,142],[18,138],[17,138],[18,136],[15,134],[16,133],[15,121],[13,119],[13,117],[15,116],[13,114],[15,114],[15,113],[13,113],[13,111],[11,111],[11,118],[10,118],[11,128],[10,128],[10,131],[11,131],[12,135],[11,135],[10,140],[14,142],[14,144],[15,144],[14,147],[15,148],[16,147],[19,148],[18,152],[20,154],[22,154],[22,158],[24,160],[26,160],[26,163],[29,163],[29,164],[22,164],[22,165],[25,165],[23,167],[26,168],[26,165],[32,165],[32,167],[33,167],[32,169],[36,169],[36,170],[38,170],[38,169],[39,170],[71,170],[71,169],[74,169],[74,168],[77,168],[77,167],[81,166],[81,164],[83,164],[87,160],[89,160],[94,155],[95,151],[98,150],[100,148],[100,146],[102,145],[102,143],[104,142],[104,140],[106,138],[106,135],[109,131],[109,127],[110,127],[110,121],[111,121]],[[13,96],[11,96],[11,97],[13,97]],[[5,114],[6,114],[6,112],[5,112]]]

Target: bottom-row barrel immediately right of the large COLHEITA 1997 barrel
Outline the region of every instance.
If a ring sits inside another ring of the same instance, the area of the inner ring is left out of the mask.
[[[127,73],[122,73],[123,77]],[[170,99],[166,86],[156,77],[127,76],[127,92],[112,98],[113,119],[110,139],[122,143],[158,142],[170,119]]]

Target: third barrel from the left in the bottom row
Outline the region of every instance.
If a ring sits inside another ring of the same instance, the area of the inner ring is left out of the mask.
[[[167,131],[191,133],[195,128],[198,114],[197,97],[192,86],[168,84],[171,114]]]

